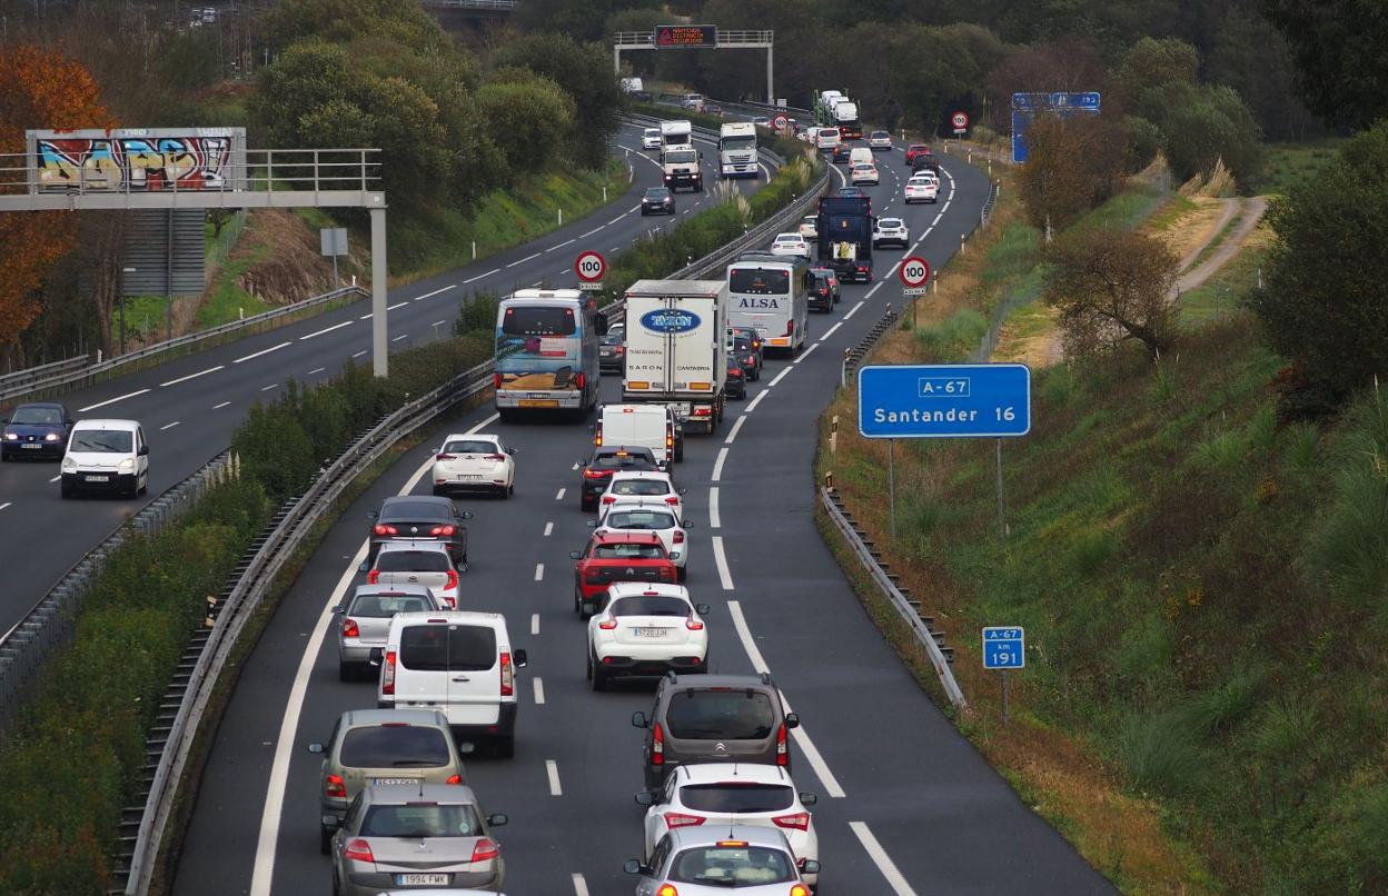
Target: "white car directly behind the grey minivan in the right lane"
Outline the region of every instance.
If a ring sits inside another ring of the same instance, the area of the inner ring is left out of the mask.
[[[819,861],[819,836],[806,806],[813,793],[797,793],[795,782],[780,766],[752,763],[698,763],[676,766],[659,791],[643,791],[636,802],[645,810],[645,856],[673,828],[691,825],[752,824],[786,835],[797,863]],[[815,886],[819,875],[806,874]]]

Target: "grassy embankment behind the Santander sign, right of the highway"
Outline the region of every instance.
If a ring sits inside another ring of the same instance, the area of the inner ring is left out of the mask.
[[[1019,266],[1017,226],[942,282],[987,294]],[[1005,548],[987,441],[897,452],[894,544],[886,447],[841,430],[820,459],[949,632],[962,730],[1126,892],[1388,888],[1388,398],[1277,426],[1283,362],[1234,302],[1259,245],[1183,297],[1160,366],[1119,352],[1035,373],[1033,431],[1004,447]],[[966,343],[923,331],[877,361]],[[852,408],[841,394],[831,413]],[[984,624],[1027,627],[1006,727]]]

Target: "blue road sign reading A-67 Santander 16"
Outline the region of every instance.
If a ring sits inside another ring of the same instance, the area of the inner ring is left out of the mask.
[[[877,365],[858,372],[858,431],[867,438],[1026,436],[1024,363]]]

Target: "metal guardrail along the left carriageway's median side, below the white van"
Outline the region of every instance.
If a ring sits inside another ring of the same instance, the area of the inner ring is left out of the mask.
[[[222,480],[226,463],[226,452],[222,452],[144,505],[125,526],[83,555],[10,631],[0,635],[0,734],[14,723],[19,706],[33,698],[44,659],[68,642],[76,610],[111,552],[132,533],[158,533],[182,516],[211,484]]]

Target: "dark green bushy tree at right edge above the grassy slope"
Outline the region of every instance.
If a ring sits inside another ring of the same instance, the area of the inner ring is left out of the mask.
[[[1276,200],[1264,287],[1249,297],[1274,351],[1342,399],[1388,381],[1388,122]]]

